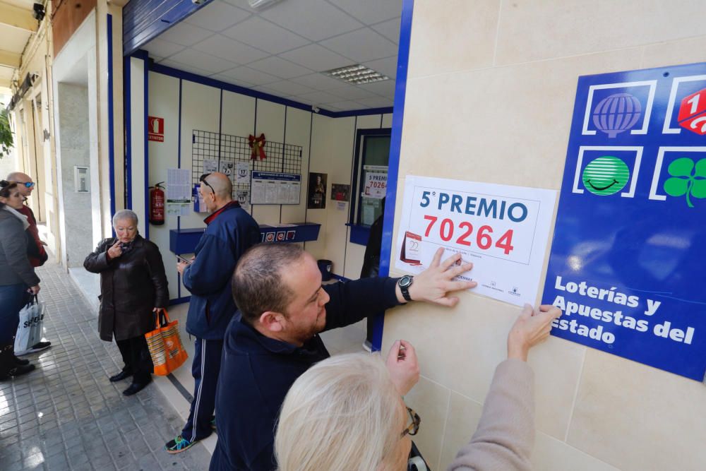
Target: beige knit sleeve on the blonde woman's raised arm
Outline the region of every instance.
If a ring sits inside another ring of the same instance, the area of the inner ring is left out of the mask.
[[[495,370],[478,429],[448,471],[532,470],[534,447],[534,373],[507,359]]]

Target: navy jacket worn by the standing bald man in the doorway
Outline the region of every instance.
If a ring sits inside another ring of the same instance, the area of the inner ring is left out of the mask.
[[[244,251],[260,242],[260,227],[237,201],[205,219],[206,227],[181,280],[191,292],[186,332],[220,340],[235,314],[230,287],[235,265]]]

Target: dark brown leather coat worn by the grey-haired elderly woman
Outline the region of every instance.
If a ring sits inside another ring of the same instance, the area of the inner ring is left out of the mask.
[[[104,239],[86,257],[83,266],[100,273],[100,314],[98,333],[110,342],[140,337],[155,328],[155,307],[169,305],[167,275],[160,249],[137,236],[132,248],[109,259],[107,251],[116,239]]]

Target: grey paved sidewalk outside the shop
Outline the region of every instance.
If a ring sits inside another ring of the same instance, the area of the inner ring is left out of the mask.
[[[97,314],[68,274],[51,263],[37,274],[52,347],[25,357],[35,371],[0,382],[0,470],[208,469],[201,443],[163,451],[184,421],[154,383],[127,398],[128,380],[108,381],[120,353],[98,338]]]

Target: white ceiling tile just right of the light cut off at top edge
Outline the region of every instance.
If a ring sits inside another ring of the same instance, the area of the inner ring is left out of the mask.
[[[282,1],[267,8],[260,16],[312,41],[321,41],[363,26],[324,0]]]

